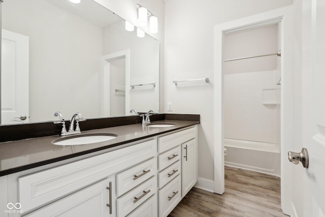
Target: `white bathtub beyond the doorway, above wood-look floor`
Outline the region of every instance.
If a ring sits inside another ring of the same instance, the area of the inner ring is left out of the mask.
[[[280,176],[280,147],[278,144],[224,139],[227,154],[224,165]]]

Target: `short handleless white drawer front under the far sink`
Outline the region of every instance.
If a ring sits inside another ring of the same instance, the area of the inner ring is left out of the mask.
[[[177,145],[182,144],[197,135],[197,128],[190,128],[167,136],[158,137],[158,153],[163,153]]]

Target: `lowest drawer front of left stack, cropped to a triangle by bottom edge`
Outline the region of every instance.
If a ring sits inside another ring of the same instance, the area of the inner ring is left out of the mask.
[[[126,215],[127,217],[155,217],[158,212],[158,195],[155,194],[146,200],[137,209]]]

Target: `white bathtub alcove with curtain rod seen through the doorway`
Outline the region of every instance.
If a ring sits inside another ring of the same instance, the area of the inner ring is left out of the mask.
[[[280,176],[279,32],[272,23],[224,35],[225,166]]]

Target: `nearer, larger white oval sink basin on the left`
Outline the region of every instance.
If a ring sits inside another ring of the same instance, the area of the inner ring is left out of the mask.
[[[84,134],[75,135],[64,138],[55,139],[52,141],[54,145],[85,145],[97,142],[105,142],[115,139],[117,135],[108,133]]]

